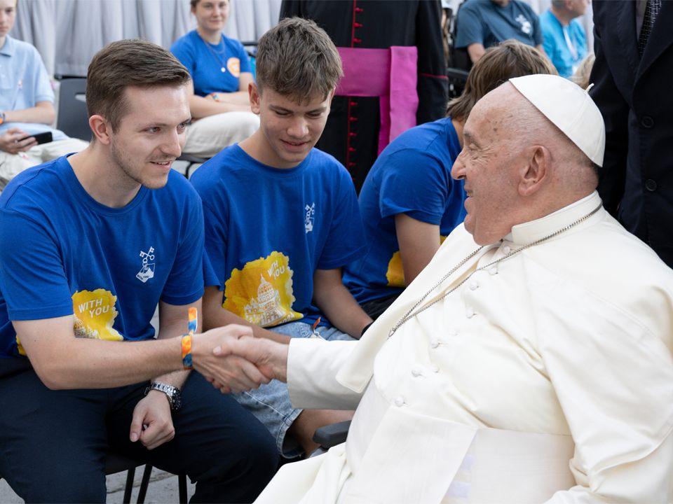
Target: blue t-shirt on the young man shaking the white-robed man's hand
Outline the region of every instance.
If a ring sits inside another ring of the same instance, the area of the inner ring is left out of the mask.
[[[66,158],[27,169],[0,195],[0,358],[23,353],[11,321],[74,314],[78,337],[154,337],[159,300],[203,295],[202,261],[203,211],[179,173],[113,209]]]

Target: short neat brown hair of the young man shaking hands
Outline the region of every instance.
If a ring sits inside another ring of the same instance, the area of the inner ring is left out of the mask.
[[[126,113],[128,86],[180,86],[189,71],[170,52],[140,38],[106,45],[91,59],[86,75],[86,109],[89,117],[106,118],[112,130]]]

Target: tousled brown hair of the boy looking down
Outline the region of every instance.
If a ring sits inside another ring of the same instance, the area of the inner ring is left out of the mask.
[[[259,39],[256,80],[297,102],[324,98],[344,75],[341,57],[325,30],[315,22],[285,18]]]

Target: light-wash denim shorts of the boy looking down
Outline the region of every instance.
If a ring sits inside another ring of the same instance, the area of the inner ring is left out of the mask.
[[[311,337],[313,329],[311,324],[305,322],[290,322],[268,328],[273,332],[287,335],[290,337]],[[341,332],[337,328],[318,327],[316,329],[320,337],[329,340],[355,341],[351,336]],[[301,444],[292,439],[291,436],[285,437],[287,429],[292,422],[297,419],[301,409],[294,409],[290,405],[290,394],[287,391],[287,384],[282,381],[272,380],[266,385],[262,385],[257,390],[243,392],[233,395],[241,405],[245,406],[266,428],[276,440],[278,451],[286,458],[294,458],[304,453]]]

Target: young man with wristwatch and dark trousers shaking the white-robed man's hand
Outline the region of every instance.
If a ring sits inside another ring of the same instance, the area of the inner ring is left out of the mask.
[[[187,333],[203,214],[171,164],[188,83],[158,46],[110,44],[88,69],[93,142],[0,196],[0,475],[27,502],[104,502],[109,450],[186,472],[199,502],[249,502],[276,469],[264,426],[205,379],[268,381],[213,354],[250,329]]]

